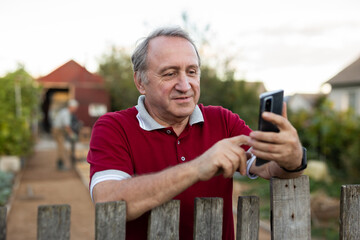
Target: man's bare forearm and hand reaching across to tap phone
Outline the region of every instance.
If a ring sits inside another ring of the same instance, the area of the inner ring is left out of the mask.
[[[98,183],[93,189],[94,201],[125,200],[127,219],[135,219],[198,181],[207,181],[218,174],[230,178],[237,169],[245,174],[247,157],[240,146],[248,140],[244,135],[223,139],[190,162],[157,173]]]

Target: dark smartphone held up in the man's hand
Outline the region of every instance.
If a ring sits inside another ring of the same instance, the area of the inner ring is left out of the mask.
[[[272,112],[275,114],[282,114],[284,99],[284,90],[276,90],[262,93],[260,95],[260,111],[259,111],[259,130],[265,132],[279,132],[277,126],[271,122],[265,121],[261,115],[263,112]],[[261,166],[269,161],[266,159],[256,158],[256,166]]]

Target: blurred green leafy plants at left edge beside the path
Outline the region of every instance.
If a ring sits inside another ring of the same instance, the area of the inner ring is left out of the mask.
[[[23,66],[0,78],[0,85],[0,155],[25,155],[32,146],[39,88]]]

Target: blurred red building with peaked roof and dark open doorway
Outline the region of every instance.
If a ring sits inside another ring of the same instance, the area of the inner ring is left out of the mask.
[[[90,73],[74,60],[38,78],[37,81],[43,87],[43,128],[47,132],[51,129],[51,112],[66,106],[69,99],[79,102],[76,115],[86,127],[92,127],[98,117],[110,108],[110,96],[105,89],[103,78]]]

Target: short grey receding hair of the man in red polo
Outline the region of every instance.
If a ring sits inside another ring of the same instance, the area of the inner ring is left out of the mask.
[[[149,43],[152,39],[154,39],[156,37],[161,37],[161,36],[180,37],[180,38],[184,38],[184,39],[188,40],[195,49],[195,52],[196,52],[196,55],[198,58],[199,67],[200,67],[201,62],[200,62],[199,52],[197,50],[197,47],[196,47],[194,41],[190,38],[189,34],[186,31],[184,31],[180,27],[158,28],[158,29],[154,30],[152,33],[150,33],[149,36],[147,36],[136,47],[134,53],[131,56],[133,70],[134,70],[134,72],[138,73],[137,78],[140,78],[139,79],[140,81],[143,81],[145,83],[147,82],[146,71],[147,71],[147,54],[148,54]]]

